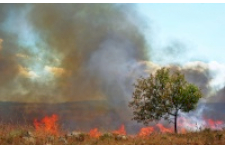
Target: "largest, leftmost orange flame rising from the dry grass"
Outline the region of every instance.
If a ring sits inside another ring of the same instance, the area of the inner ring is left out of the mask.
[[[53,114],[51,117],[45,116],[40,122],[34,119],[34,127],[36,132],[44,132],[47,134],[58,134],[58,116]]]

